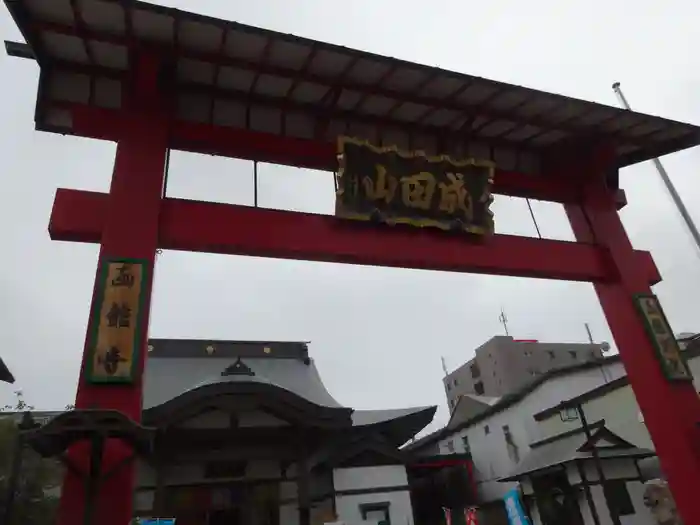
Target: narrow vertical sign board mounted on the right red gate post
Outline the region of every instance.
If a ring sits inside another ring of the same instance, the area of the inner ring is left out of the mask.
[[[661,370],[668,381],[692,381],[693,374],[688,367],[671,325],[661,309],[659,299],[654,294],[639,294],[634,297],[635,305],[644,320],[647,334],[651,339]]]

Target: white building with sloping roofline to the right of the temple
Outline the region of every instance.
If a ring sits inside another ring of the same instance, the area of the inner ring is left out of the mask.
[[[699,387],[700,348],[690,345],[685,355]],[[559,408],[567,400],[580,403],[593,433],[599,431],[593,441],[607,449],[599,452],[601,457],[608,456],[604,461],[606,479],[625,481],[630,502],[624,506],[620,523],[646,525],[649,522],[643,507],[642,480],[658,472],[654,460],[643,459],[653,452],[653,443],[617,355],[550,371],[500,399],[463,396],[445,428],[408,448],[419,454],[471,454],[484,509],[501,509],[502,498],[514,487],[519,486],[525,496],[532,494],[525,475],[528,469],[541,472],[556,464],[580,489],[583,523],[594,523],[586,501],[592,498],[596,507],[602,507],[598,511],[600,524],[607,525],[611,521],[602,489],[599,484],[592,486],[597,482],[592,451],[588,450],[588,455],[581,452],[582,447],[587,450],[581,421],[575,409],[562,413]],[[611,449],[611,445],[616,446]],[[617,453],[623,449],[622,454]],[[577,463],[585,465],[589,485],[585,490]],[[628,508],[630,504],[633,509]],[[538,523],[537,512],[531,514]]]

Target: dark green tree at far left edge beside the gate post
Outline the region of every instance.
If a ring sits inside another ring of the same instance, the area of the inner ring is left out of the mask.
[[[14,413],[0,414],[0,519],[5,512],[13,459],[18,453],[16,415],[33,409],[24,401],[22,392],[15,395],[15,405],[5,407]],[[21,454],[22,468],[15,485],[12,522],[3,525],[50,525],[58,504],[62,469],[57,461],[43,459],[28,447],[24,447]]]

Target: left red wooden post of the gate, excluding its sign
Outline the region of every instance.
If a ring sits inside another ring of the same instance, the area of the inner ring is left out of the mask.
[[[153,279],[153,266],[158,247],[158,224],[162,201],[166,152],[168,147],[168,120],[164,101],[158,93],[160,61],[150,54],[143,54],[135,61],[133,84],[124,89],[125,99],[123,129],[112,174],[109,201],[105,216],[100,262],[108,258],[144,259],[146,279],[145,301],[142,303],[140,352],[137,358],[136,378],[133,384],[100,385],[86,381],[89,334],[93,328],[93,315],[88,326],[76,408],[116,409],[135,421],[141,420],[142,370],[146,356],[148,318]],[[99,269],[98,269],[99,271]],[[96,303],[98,273],[93,291],[92,312]],[[110,441],[104,451],[103,470],[110,469],[131,451],[122,443]],[[88,450],[82,444],[71,450],[71,460],[87,472]],[[99,488],[95,507],[95,523],[100,525],[126,525],[132,519],[134,491],[134,466],[128,464],[105,480]],[[85,486],[82,478],[66,473],[58,525],[82,523],[85,508]]]

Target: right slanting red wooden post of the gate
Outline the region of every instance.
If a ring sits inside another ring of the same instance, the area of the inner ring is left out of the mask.
[[[633,296],[651,290],[633,256],[614,196],[603,182],[609,159],[609,149],[599,148],[590,162],[572,163],[570,171],[590,182],[585,184],[581,206],[565,208],[577,241],[594,242],[609,251],[612,279],[595,284],[598,299],[678,509],[685,523],[700,523],[700,398],[692,383],[666,380],[637,313]]]

